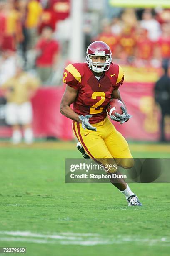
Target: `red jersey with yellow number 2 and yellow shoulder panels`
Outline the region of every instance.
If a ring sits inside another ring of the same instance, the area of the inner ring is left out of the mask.
[[[78,115],[92,115],[90,123],[105,119],[112,91],[123,84],[123,79],[122,68],[113,63],[99,80],[86,63],[69,64],[63,76],[63,82],[78,91],[73,110]]]

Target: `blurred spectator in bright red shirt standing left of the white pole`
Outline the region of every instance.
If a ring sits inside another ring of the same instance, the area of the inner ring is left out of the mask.
[[[41,38],[35,46],[37,52],[36,69],[42,82],[46,82],[55,69],[59,54],[59,44],[52,39],[52,28],[45,27]]]

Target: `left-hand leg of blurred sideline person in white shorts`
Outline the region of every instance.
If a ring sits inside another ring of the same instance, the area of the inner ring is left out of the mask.
[[[20,143],[22,139],[22,133],[18,124],[18,105],[15,103],[7,103],[5,106],[5,121],[12,127],[11,142],[13,144]]]

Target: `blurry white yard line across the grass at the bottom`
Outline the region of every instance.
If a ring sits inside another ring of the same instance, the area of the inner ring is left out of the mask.
[[[63,245],[106,245],[136,243],[148,246],[170,246],[170,238],[159,237],[157,239],[138,238],[136,236],[102,236],[92,233],[32,233],[30,231],[0,231],[0,241],[20,241],[28,243],[49,243]]]

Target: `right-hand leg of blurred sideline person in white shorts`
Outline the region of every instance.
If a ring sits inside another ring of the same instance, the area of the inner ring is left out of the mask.
[[[25,102],[20,105],[19,109],[20,124],[23,125],[24,141],[31,144],[34,141],[34,134],[32,130],[32,106],[30,102]]]

